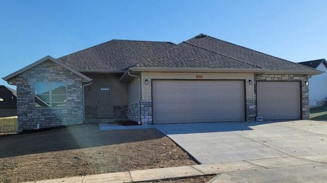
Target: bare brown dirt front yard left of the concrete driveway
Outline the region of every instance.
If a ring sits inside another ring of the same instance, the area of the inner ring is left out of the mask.
[[[0,182],[195,164],[154,128],[100,131],[87,124],[0,136]]]

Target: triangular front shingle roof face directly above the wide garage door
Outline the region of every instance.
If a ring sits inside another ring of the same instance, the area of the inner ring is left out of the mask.
[[[248,64],[227,56],[214,53],[211,50],[182,42],[164,53],[147,59],[136,67],[169,67],[169,68],[236,68],[257,69],[258,66]]]

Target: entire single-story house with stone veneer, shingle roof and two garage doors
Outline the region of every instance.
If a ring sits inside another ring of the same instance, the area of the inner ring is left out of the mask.
[[[179,44],[111,40],[32,63],[17,86],[18,131],[133,120],[140,124],[309,119],[314,68],[204,34]]]

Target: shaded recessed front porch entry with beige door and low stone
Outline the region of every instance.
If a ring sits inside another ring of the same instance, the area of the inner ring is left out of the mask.
[[[137,121],[138,105],[128,105],[128,84],[121,74],[85,73],[92,83],[84,86],[84,123]]]

